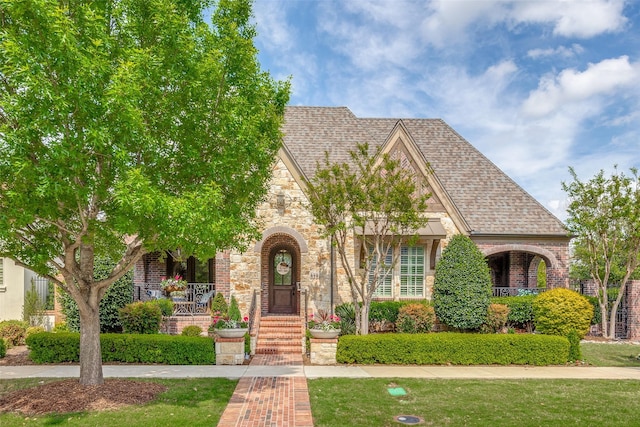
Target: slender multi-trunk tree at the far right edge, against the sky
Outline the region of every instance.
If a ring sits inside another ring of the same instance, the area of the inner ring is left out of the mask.
[[[638,171],[610,176],[600,171],[582,182],[575,171],[573,182],[562,183],[570,199],[567,225],[575,236],[574,258],[596,283],[602,316],[602,333],[615,337],[616,314],[627,282],[640,262],[640,181]],[[615,280],[612,283],[612,279]],[[619,286],[609,307],[607,290]]]

